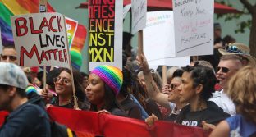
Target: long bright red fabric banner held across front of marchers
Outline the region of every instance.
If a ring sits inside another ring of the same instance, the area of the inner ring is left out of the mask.
[[[167,121],[157,121],[154,126],[149,127],[144,121],[137,119],[60,107],[49,107],[48,114],[53,120],[68,126],[76,133],[85,132],[87,135],[103,135],[106,137],[208,136],[208,133],[203,132],[201,128],[181,126]]]

